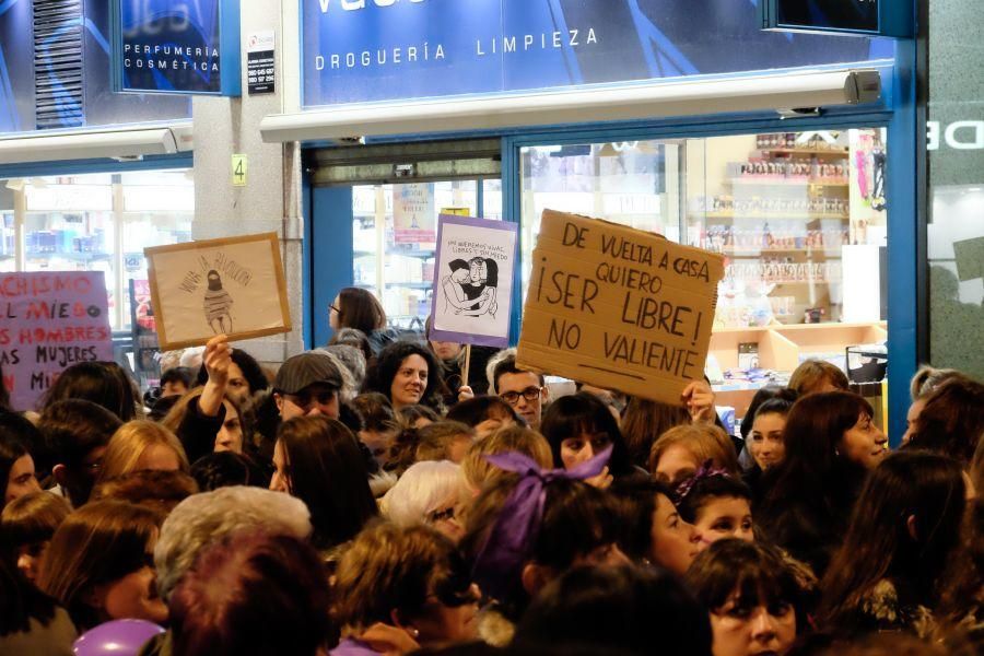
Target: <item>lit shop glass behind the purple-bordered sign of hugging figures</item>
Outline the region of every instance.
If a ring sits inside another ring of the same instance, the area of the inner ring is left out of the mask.
[[[354,284],[383,300],[390,327],[422,330],[431,311],[438,214],[501,219],[502,181],[362,185],[352,188],[352,204]]]

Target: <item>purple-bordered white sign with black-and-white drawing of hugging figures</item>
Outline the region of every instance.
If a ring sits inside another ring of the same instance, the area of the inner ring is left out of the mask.
[[[432,340],[508,345],[517,227],[504,221],[441,215]]]

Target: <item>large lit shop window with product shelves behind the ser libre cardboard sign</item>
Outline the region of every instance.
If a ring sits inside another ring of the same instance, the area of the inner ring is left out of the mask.
[[[546,208],[721,253],[707,374],[740,417],[803,360],[885,352],[885,162],[879,129],[525,148],[524,296]]]

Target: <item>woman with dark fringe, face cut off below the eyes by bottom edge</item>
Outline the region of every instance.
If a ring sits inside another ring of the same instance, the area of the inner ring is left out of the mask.
[[[773,547],[721,540],[693,561],[686,582],[710,612],[714,656],[782,656],[807,626],[804,589]]]

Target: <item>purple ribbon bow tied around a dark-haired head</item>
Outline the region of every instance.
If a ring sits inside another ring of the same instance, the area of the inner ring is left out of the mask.
[[[598,476],[608,465],[611,449],[609,445],[590,460],[570,470],[541,469],[532,458],[515,452],[485,456],[485,460],[500,469],[519,475],[516,489],[502,506],[475,561],[472,575],[485,594],[502,599],[514,585],[517,570],[526,562],[540,532],[547,483],[561,479],[583,481]]]

